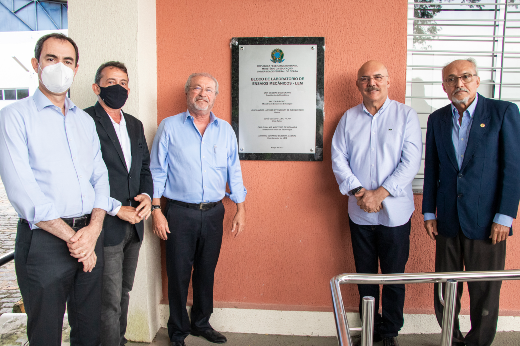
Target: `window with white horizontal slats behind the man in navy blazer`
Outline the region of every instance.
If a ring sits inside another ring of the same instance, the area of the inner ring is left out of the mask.
[[[408,3],[406,104],[419,115],[426,140],[428,116],[449,104],[441,70],[474,58],[478,92],[520,107],[520,0],[416,0]],[[413,182],[422,192],[423,161]]]

